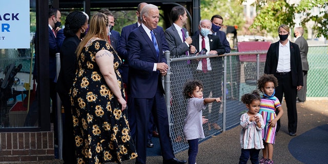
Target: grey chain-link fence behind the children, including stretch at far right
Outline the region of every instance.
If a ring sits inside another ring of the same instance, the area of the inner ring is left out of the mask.
[[[183,121],[187,115],[187,99],[182,95],[183,85],[188,80],[202,81],[204,97],[221,97],[221,103],[211,103],[203,110],[209,119],[203,125],[206,140],[213,135],[239,125],[240,115],[247,111],[240,98],[256,90],[257,79],[264,72],[267,51],[234,52],[224,55],[198,55],[170,57],[167,52],[169,70],[165,77],[166,99],[170,120],[171,139],[174,152],[188,149],[183,136]],[[197,70],[199,60],[208,58],[211,69],[204,73]],[[264,59],[264,60],[263,60]],[[311,46],[308,60],[308,97],[328,97],[328,47]]]

